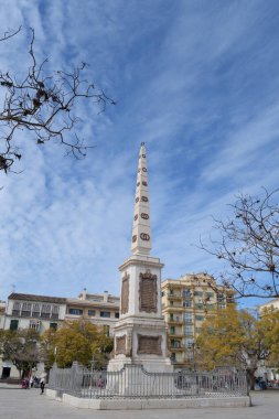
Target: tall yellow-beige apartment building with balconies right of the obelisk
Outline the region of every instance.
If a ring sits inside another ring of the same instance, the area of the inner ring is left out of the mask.
[[[217,287],[207,273],[192,273],[162,282],[162,313],[168,346],[175,367],[195,367],[195,345],[204,319],[233,302],[232,291]]]

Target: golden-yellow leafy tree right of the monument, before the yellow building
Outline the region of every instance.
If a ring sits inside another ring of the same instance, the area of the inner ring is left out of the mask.
[[[218,310],[216,316],[208,316],[202,325],[197,361],[204,368],[224,365],[244,368],[254,388],[259,361],[268,362],[278,353],[278,312],[257,320],[235,307]]]

